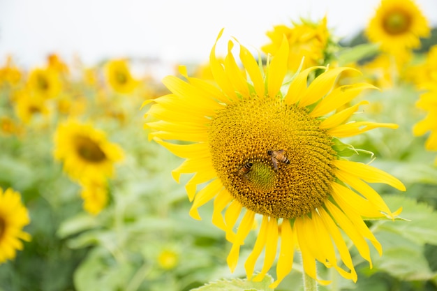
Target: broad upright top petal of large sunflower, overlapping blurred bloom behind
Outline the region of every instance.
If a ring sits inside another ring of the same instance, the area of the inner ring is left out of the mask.
[[[286,36],[283,36],[281,46],[270,62],[267,71],[267,92],[269,96],[276,96],[281,90],[283,78],[286,77],[287,73],[288,50],[288,40]]]

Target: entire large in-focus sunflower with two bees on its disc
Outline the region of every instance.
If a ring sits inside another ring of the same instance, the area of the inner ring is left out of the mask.
[[[221,33],[217,41],[220,37]],[[193,201],[190,210],[193,218],[200,219],[198,208],[214,199],[212,221],[232,243],[228,255],[232,271],[237,266],[240,246],[258,214],[262,223],[245,263],[248,278],[252,277],[263,248],[264,264],[253,281],[260,281],[267,274],[280,239],[277,279],[272,288],[290,273],[295,247],[302,253],[304,271],[312,278],[318,279],[318,260],[356,281],[357,274],[340,230],[371,263],[366,239],[379,253],[381,246],[362,216],[396,214],[366,182],[405,188],[390,174],[342,158],[334,144],[339,144],[337,137],[397,125],[366,121],[345,124],[366,101],[335,112],[362,90],[375,88],[359,83],[332,89],[336,77],[352,68],[325,70],[307,85],[311,72],[326,69],[311,67],[288,82],[284,78],[290,46],[285,37],[267,64],[265,75],[249,50],[239,45],[242,71],[232,54],[234,45],[230,40],[223,63],[216,58],[216,45],[212,48],[210,65],[217,86],[188,77],[184,68],[181,73],[186,81],[174,76],[163,79],[172,94],[145,102],[154,103],[146,115],[158,119],[146,124],[151,129],[149,138],[176,156],[186,158],[172,171],[176,181],[181,174],[195,173],[186,184],[188,198]],[[283,84],[288,84],[288,89]],[[327,117],[329,112],[333,113]],[[197,191],[198,185],[205,183]],[[336,251],[346,269],[340,267]]]

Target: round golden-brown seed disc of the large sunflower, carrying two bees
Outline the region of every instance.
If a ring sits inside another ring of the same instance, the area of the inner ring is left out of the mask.
[[[325,202],[334,180],[332,137],[306,108],[252,96],[217,112],[209,145],[218,178],[255,213],[308,214]]]

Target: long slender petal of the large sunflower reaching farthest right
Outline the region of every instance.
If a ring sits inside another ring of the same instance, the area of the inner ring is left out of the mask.
[[[393,177],[391,174],[379,170],[371,165],[364,163],[357,163],[352,161],[334,161],[334,165],[343,172],[354,174],[356,177],[363,179],[367,183],[383,183],[397,188],[400,191],[406,191],[405,186],[399,179]]]

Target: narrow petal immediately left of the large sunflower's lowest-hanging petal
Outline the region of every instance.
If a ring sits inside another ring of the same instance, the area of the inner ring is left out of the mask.
[[[276,248],[278,246],[278,221],[276,218],[270,217],[270,221],[267,225],[267,241],[265,244],[265,258],[264,264],[260,274],[253,278],[253,281],[262,281],[267,271],[272,267],[274,258],[276,258]]]

